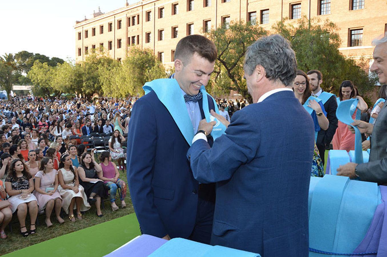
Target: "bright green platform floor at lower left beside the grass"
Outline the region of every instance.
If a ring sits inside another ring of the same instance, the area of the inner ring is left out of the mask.
[[[140,235],[134,213],[3,255],[5,257],[104,256]]]

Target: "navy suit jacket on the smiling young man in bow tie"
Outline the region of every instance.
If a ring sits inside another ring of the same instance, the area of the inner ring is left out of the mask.
[[[209,96],[208,103],[214,109]],[[190,146],[154,91],[133,106],[127,142],[128,186],[142,233],[188,238],[204,191],[186,157]],[[214,192],[212,184],[212,195],[203,197],[214,199]]]

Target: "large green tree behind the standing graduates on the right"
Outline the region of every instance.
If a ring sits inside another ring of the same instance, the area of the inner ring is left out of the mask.
[[[298,69],[320,70],[323,74],[322,87],[325,91],[338,95],[342,81],[351,80],[358,87],[360,94],[370,91],[374,81],[368,77],[368,60],[361,58],[355,62],[344,57],[338,50],[341,45],[337,26],[330,21],[319,19],[299,19],[296,26],[287,20],[277,22],[274,32],[291,42],[296,52]]]

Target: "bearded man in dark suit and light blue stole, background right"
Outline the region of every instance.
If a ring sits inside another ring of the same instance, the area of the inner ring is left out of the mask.
[[[310,70],[307,72],[310,90],[313,96],[322,99],[324,109],[327,112],[327,119],[329,121],[329,127],[327,130],[320,130],[317,134],[316,146],[319,149],[322,164],[325,163],[325,149],[329,147],[330,142],[336,133],[337,128],[337,100],[334,94],[324,92],[321,88],[322,73],[319,70]]]

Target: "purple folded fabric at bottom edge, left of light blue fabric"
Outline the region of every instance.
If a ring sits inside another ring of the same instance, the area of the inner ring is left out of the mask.
[[[118,250],[105,255],[105,257],[146,257],[166,242],[168,241],[156,236],[142,235]]]

